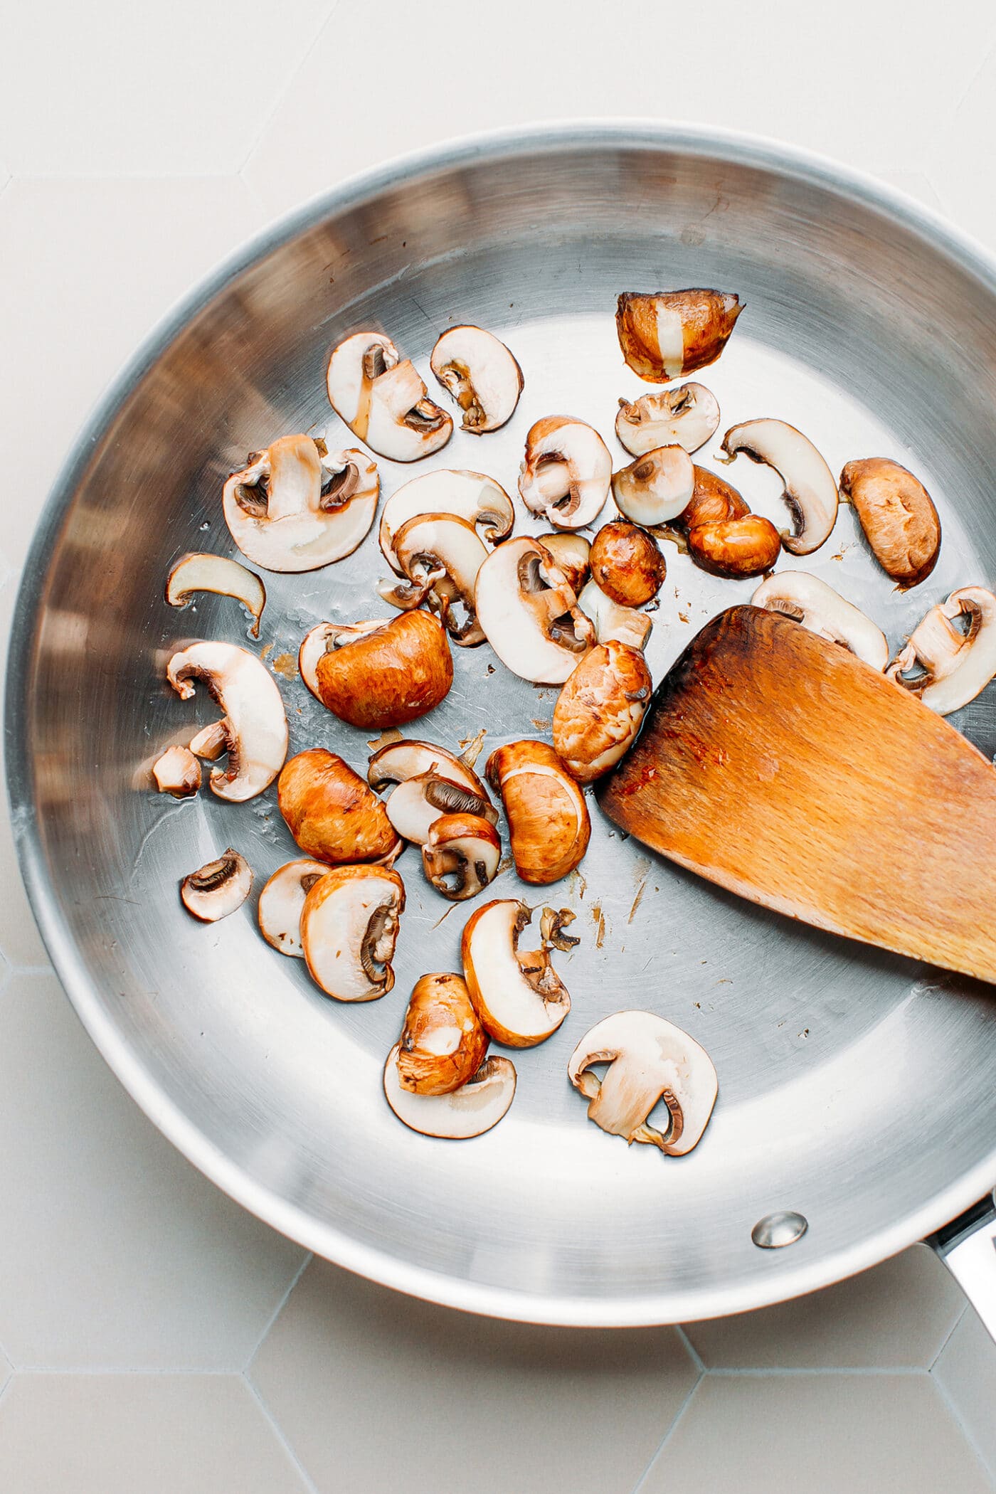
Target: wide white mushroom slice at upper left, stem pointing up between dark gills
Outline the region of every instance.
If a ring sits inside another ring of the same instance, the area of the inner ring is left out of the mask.
[[[352,554],[373,523],[379,490],[363,451],[330,454],[314,436],[281,436],[231,474],[222,506],[231,538],[254,565],[317,571]]]

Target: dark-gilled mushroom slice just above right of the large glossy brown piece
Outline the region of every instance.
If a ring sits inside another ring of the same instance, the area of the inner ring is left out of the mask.
[[[473,592],[487,550],[473,524],[454,514],[420,514],[394,533],[394,553],[408,581],[382,581],[384,601],[405,611],[429,602],[454,642],[482,644]]]

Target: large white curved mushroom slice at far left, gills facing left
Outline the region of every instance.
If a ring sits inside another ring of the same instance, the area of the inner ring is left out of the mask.
[[[234,644],[191,644],[173,654],[166,678],[182,701],[193,698],[196,680],[203,681],[224,711],[224,719],[209,728],[215,740],[224,732],[228,753],[227,768],[211,771],[218,798],[242,804],[263,793],[287,757],[284,702],[266,666]]]

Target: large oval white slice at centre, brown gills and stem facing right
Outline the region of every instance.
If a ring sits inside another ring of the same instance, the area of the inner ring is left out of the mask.
[[[506,539],[478,571],[478,623],[523,680],[563,684],[594,644],[566,575],[536,539]]]

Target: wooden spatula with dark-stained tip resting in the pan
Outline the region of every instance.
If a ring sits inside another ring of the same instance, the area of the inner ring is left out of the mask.
[[[599,799],[753,902],[996,982],[996,768],[787,617],[706,623]]]

